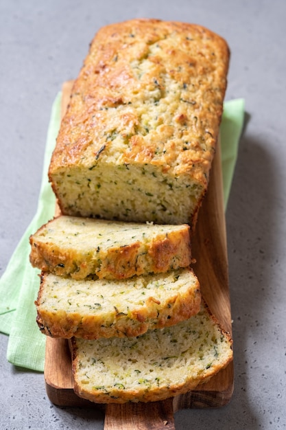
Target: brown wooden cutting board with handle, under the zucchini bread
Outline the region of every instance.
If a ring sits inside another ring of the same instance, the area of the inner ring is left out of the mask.
[[[72,81],[62,87],[62,114],[67,109]],[[211,311],[228,332],[231,330],[228,288],[228,258],[222,188],[220,146],[217,148],[208,192],[198,216],[193,238],[193,269]],[[179,409],[221,407],[233,394],[233,363],[192,392],[155,403],[97,405],[73,392],[71,357],[65,339],[47,337],[45,383],[52,403],[69,407],[92,407],[105,412],[104,430],[175,429],[174,413]]]

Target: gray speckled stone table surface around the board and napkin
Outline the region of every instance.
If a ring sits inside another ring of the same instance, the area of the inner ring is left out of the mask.
[[[175,415],[176,429],[286,427],[286,2],[0,0],[0,275],[34,216],[51,104],[102,25],[188,21],[226,38],[226,100],[245,98],[226,227],[235,390],[219,409]],[[1,299],[1,298],[0,298]],[[60,408],[43,374],[15,368],[0,335],[0,429],[103,429],[98,411]]]

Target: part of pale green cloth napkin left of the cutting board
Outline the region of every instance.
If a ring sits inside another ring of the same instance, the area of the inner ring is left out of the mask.
[[[37,211],[0,280],[0,331],[10,335],[7,359],[14,365],[38,371],[44,368],[45,336],[35,322],[34,300],[38,293],[40,271],[29,264],[29,236],[40,225],[47,223],[55,212],[56,197],[49,185],[47,172],[60,126],[60,100],[61,93],[58,93],[51,109]]]

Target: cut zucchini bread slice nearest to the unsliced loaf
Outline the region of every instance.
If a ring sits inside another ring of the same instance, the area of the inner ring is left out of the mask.
[[[123,279],[191,264],[189,225],[58,216],[30,236],[32,266],[84,279]]]

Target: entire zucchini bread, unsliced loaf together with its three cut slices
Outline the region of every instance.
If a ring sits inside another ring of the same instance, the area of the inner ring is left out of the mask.
[[[61,214],[30,261],[38,326],[69,339],[82,398],[163,400],[233,359],[191,269],[228,60],[204,27],[134,19],[99,30],[75,80],[49,166]]]

